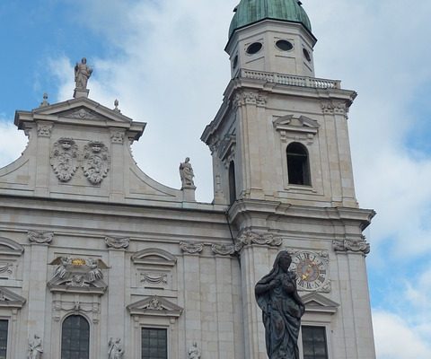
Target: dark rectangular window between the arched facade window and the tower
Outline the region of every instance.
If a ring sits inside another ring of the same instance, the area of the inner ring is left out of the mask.
[[[166,329],[142,328],[142,359],[168,359],[168,333]]]

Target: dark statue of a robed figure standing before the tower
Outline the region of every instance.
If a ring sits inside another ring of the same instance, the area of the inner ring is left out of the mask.
[[[269,359],[299,359],[298,336],[305,305],[296,290],[296,275],[289,270],[291,264],[290,254],[280,251],[272,270],[255,286]]]

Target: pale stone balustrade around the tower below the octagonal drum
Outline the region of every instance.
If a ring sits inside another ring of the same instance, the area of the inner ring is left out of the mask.
[[[241,69],[238,74],[240,78],[266,81],[268,83],[280,83],[289,86],[312,87],[315,89],[340,89],[339,80],[325,80],[315,77],[296,76],[294,74],[267,73],[264,71],[254,71]]]

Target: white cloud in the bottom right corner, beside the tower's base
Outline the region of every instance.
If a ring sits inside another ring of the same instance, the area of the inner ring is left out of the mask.
[[[405,316],[409,317],[406,312]],[[429,359],[429,337],[421,328],[409,326],[408,322],[391,312],[374,311],[375,349],[378,359]]]

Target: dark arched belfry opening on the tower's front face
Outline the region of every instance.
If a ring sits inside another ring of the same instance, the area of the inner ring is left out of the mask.
[[[286,153],[289,184],[311,186],[310,163],[305,146],[294,142],[287,146]]]

